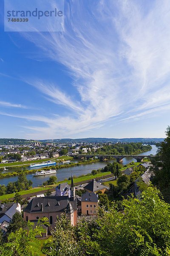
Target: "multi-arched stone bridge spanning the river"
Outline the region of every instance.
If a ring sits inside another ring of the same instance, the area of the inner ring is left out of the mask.
[[[90,154],[73,154],[71,156],[78,157],[79,159],[86,159],[86,160],[88,160],[89,158],[98,157],[99,160],[101,161],[107,159],[108,157],[113,157],[116,159],[118,163],[122,162],[124,157],[133,157],[134,159],[136,159],[137,162],[142,162],[144,157],[147,157],[150,159],[155,157],[150,155],[138,156],[138,155],[95,155],[95,154],[91,154],[91,155]]]

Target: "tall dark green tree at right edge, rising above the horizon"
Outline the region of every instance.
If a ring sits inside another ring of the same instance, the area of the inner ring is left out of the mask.
[[[164,200],[170,203],[170,126],[165,132],[166,138],[158,146],[157,157],[151,160],[154,173],[153,183],[159,187]]]

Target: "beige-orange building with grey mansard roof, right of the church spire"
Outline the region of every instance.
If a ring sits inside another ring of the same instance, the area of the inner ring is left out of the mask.
[[[96,195],[95,193],[86,192],[82,194],[82,214],[95,215],[98,203],[98,195]]]

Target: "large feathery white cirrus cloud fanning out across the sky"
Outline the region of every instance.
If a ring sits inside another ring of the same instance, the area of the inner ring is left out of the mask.
[[[68,95],[67,87],[61,89],[55,81],[28,80],[71,112],[37,116],[44,126],[26,128],[35,131],[35,137],[51,131],[65,137],[99,128],[109,119],[130,122],[167,111],[163,105],[170,103],[169,11],[169,0],[147,5],[133,0],[65,1],[64,33],[22,33],[41,49],[41,57],[66,67],[79,94],[79,100]]]

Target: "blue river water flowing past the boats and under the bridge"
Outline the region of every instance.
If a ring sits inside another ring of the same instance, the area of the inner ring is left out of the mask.
[[[152,149],[150,151],[147,151],[147,152],[144,152],[144,153],[141,153],[138,155],[150,155],[150,154],[155,155],[157,147],[156,147],[156,145],[151,145],[151,146],[152,146]],[[125,158],[123,158],[123,165],[130,163],[131,161],[136,162],[136,160],[133,157],[125,157]],[[77,161],[71,161],[71,162],[76,163]],[[68,179],[68,177],[71,177],[71,173],[73,173],[73,175],[78,177],[79,175],[83,175],[83,174],[86,175],[88,173],[91,173],[91,171],[94,169],[97,170],[102,167],[105,167],[108,163],[112,163],[112,162],[113,162],[113,160],[97,162],[97,163],[89,163],[87,165],[80,165],[80,166],[58,169],[56,176],[57,176],[58,181],[64,180],[65,178]],[[30,169],[30,168],[28,168],[28,169]],[[38,169],[38,168],[36,168],[36,169]],[[10,172],[11,172],[11,170],[10,170]],[[32,174],[28,174],[28,175],[26,175],[26,177],[28,180],[32,180],[33,187],[37,187],[38,185],[41,185],[42,182],[48,180],[50,175],[33,177]],[[18,179],[18,177],[3,178],[3,179],[0,179],[0,184],[1,185],[4,184],[6,186],[9,182],[17,181],[17,179]]]

